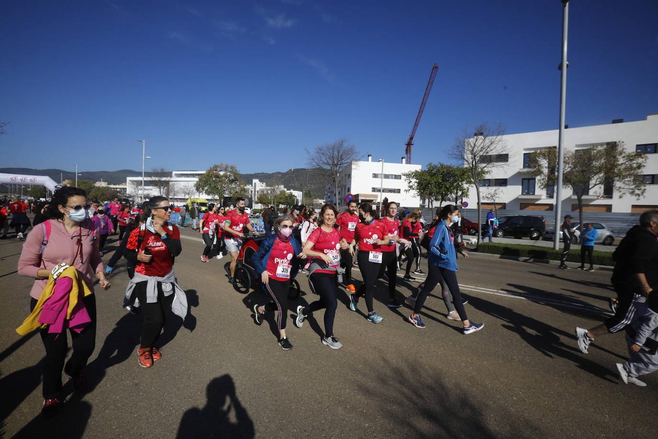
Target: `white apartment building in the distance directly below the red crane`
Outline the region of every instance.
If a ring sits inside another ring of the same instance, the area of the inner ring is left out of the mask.
[[[405,157],[399,163],[372,161],[354,161],[338,176],[338,200],[334,199],[334,185],[325,189],[325,200],[337,208],[345,206],[345,195],[354,195],[357,203],[379,203],[388,197],[403,207],[419,207],[420,197],[415,192],[407,192],[407,180],[404,174],[419,170],[420,165],[409,165]]]

